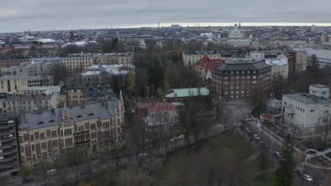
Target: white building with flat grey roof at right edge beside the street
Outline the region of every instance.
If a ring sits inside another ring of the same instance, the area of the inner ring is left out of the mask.
[[[316,87],[317,88],[317,87]],[[312,94],[284,94],[283,121],[298,137],[318,135],[330,122],[331,101]]]

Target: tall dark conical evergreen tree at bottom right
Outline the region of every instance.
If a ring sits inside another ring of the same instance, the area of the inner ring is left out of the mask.
[[[281,149],[283,159],[279,161],[279,168],[276,171],[276,186],[291,186],[294,184],[294,147],[291,137],[286,136]]]

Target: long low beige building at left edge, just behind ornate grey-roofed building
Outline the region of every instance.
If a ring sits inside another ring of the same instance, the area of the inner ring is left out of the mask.
[[[26,113],[56,109],[58,104],[59,101],[56,95],[0,94],[0,113],[18,112],[20,109],[23,109]]]

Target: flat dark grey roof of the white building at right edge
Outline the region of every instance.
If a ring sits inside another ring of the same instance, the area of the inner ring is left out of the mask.
[[[331,101],[328,99],[305,93],[284,94],[283,97],[289,97],[305,104],[331,104]]]

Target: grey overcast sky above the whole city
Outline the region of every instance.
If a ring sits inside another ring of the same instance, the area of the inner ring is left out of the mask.
[[[330,23],[331,0],[0,0],[0,32],[162,23]],[[243,24],[245,25],[245,24]]]

